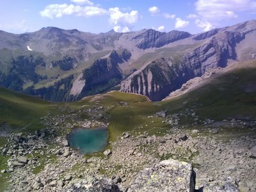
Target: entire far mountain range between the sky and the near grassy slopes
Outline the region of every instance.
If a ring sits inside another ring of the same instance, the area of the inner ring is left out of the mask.
[[[161,100],[211,68],[255,59],[255,31],[256,20],[196,35],[153,29],[0,31],[0,85],[52,101],[113,89]]]

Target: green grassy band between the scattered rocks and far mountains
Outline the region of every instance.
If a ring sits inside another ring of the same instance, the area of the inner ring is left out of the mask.
[[[211,77],[208,83],[196,90],[162,102],[150,102],[142,95],[110,92],[87,97],[77,102],[65,103],[65,105],[76,111],[84,106],[108,108],[106,115],[109,116],[111,140],[115,140],[116,136],[124,131],[145,131],[166,127],[161,123],[161,118],[148,118],[163,109],[168,109],[168,113],[172,114],[191,108],[201,118],[215,120],[232,118],[255,120],[256,61],[241,62],[236,66],[238,67],[234,67],[225,74]],[[122,102],[127,102],[127,105]],[[57,112],[52,110],[51,102],[5,88],[0,88],[0,106],[0,125],[7,122],[12,127],[27,127],[31,130],[42,126],[40,117]],[[54,104],[54,106],[58,108],[63,106],[63,103]]]

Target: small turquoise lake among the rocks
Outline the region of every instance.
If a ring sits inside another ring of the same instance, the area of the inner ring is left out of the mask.
[[[70,147],[81,154],[92,154],[104,150],[108,143],[107,129],[76,129],[67,136]]]

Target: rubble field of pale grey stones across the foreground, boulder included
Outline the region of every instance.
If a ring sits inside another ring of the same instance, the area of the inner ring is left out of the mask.
[[[221,138],[219,129],[208,128],[208,134],[178,129],[177,116],[165,111],[156,115],[172,125],[168,134],[124,132],[103,154],[86,156],[68,147],[65,134],[59,134],[70,126],[67,116],[42,118],[47,129],[6,136],[1,152],[10,159],[1,177],[8,177],[9,191],[256,191],[255,136]],[[77,124],[104,125],[97,120]],[[246,125],[237,120],[230,124]]]

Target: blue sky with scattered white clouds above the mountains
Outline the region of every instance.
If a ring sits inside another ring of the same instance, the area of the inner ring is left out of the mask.
[[[191,34],[256,19],[256,0],[1,0],[0,30],[54,26],[91,33],[156,29]]]

